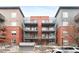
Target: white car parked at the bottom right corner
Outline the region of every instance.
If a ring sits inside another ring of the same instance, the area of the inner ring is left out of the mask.
[[[52,53],[79,53],[78,47],[60,47],[52,51]]]

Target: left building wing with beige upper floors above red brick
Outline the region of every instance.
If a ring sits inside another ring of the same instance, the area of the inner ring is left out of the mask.
[[[0,7],[0,43],[19,44],[22,41],[24,15],[20,7]]]

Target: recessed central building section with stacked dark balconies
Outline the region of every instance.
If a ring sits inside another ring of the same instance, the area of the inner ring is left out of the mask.
[[[24,42],[36,45],[56,43],[56,19],[49,16],[26,17],[23,23]]]

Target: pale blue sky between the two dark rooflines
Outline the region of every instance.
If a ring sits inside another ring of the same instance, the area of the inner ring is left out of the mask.
[[[30,16],[50,16],[54,17],[58,6],[21,6],[21,10],[25,17]]]

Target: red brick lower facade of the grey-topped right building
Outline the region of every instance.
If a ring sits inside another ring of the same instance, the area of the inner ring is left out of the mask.
[[[67,31],[67,36],[63,35],[63,31]],[[63,39],[67,39],[69,42],[69,45],[75,43],[74,34],[75,33],[75,27],[74,26],[60,26],[57,28],[57,44],[63,45]]]

